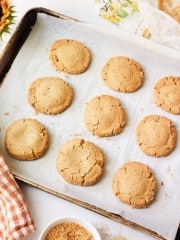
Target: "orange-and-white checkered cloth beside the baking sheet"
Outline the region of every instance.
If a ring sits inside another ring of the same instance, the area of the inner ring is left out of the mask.
[[[18,240],[34,230],[22,193],[0,156],[0,240]]]

